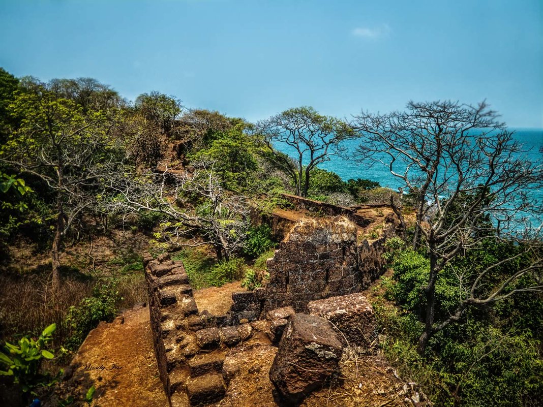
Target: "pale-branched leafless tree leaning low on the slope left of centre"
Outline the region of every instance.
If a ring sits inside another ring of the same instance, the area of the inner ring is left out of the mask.
[[[196,163],[191,173],[166,169],[144,177],[113,174],[108,189],[114,195],[104,209],[122,215],[162,213],[166,221],[157,232],[161,239],[184,246],[210,244],[219,260],[228,259],[245,245],[249,211],[243,197],[223,189],[213,164]]]

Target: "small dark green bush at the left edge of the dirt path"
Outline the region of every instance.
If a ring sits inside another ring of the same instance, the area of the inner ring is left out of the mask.
[[[111,280],[105,284],[97,284],[92,290],[91,297],[81,300],[78,306],[70,307],[64,320],[66,327],[71,331],[66,347],[71,350],[77,349],[90,330],[96,328],[98,322],[111,322],[117,313],[117,302],[121,299],[116,281]]]

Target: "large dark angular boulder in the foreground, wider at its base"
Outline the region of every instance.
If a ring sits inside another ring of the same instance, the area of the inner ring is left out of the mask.
[[[337,371],[343,344],[330,322],[293,314],[270,369],[270,380],[291,404],[298,404]]]

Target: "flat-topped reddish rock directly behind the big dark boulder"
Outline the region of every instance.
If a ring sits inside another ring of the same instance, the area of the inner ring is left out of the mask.
[[[307,304],[311,315],[321,316],[341,332],[340,339],[350,344],[368,346],[375,334],[376,322],[367,298],[355,294],[311,301]]]

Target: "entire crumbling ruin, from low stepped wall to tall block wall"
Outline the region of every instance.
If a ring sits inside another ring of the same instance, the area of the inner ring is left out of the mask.
[[[277,344],[292,314],[311,311],[334,326],[343,323],[355,342],[359,335],[353,327],[362,323],[363,336],[370,336],[372,310],[356,293],[379,273],[362,270],[359,264],[363,253],[380,247],[383,239],[358,244],[356,227],[345,217],[295,224],[268,259],[269,284],[234,292],[224,315],[198,309],[181,262],[167,254],[144,257],[157,364],[171,405],[207,404],[224,397],[226,351],[242,342]],[[335,300],[318,301],[334,296],[343,296],[337,303],[349,309],[350,322],[333,319],[339,315],[334,314]]]

